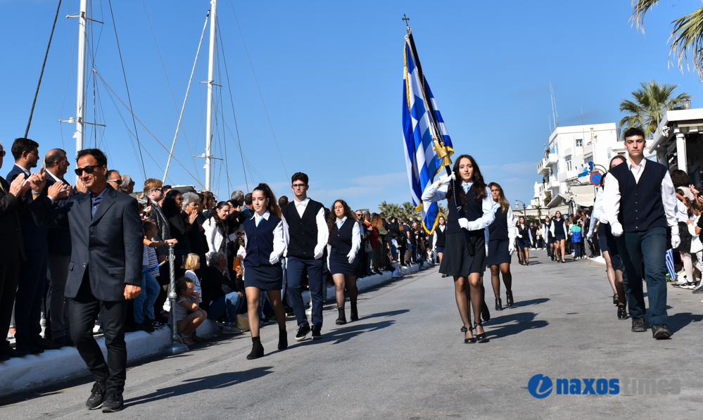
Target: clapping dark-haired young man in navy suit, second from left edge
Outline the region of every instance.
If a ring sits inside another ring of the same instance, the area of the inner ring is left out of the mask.
[[[39,144],[31,139],[15,139],[12,144],[15,165],[7,174],[8,182],[15,177],[30,177],[30,170],[37,167]],[[48,198],[43,199],[49,201]],[[25,197],[25,200],[31,200]],[[47,202],[46,205],[52,203]],[[15,341],[16,348],[22,352],[38,354],[44,350],[60,348],[61,345],[49,343],[40,334],[42,326],[42,301],[46,286],[46,267],[49,264],[49,246],[46,242],[46,228],[34,221],[32,212],[25,211],[20,217],[26,260],[20,267],[17,295],[15,295]]]

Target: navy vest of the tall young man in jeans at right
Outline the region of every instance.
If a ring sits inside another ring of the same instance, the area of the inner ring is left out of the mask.
[[[640,182],[635,182],[628,163],[617,165],[610,173],[620,184],[620,214],[618,221],[623,231],[647,231],[666,227],[664,203],[661,202],[661,183],[666,167],[648,160],[642,170]]]

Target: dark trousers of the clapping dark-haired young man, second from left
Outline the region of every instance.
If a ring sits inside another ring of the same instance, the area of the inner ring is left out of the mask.
[[[48,249],[26,250],[15,295],[15,341],[19,347],[32,345],[42,338],[42,302],[46,291]]]

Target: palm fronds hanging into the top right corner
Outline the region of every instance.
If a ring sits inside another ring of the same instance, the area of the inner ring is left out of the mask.
[[[645,13],[658,2],[659,0],[632,0],[633,10],[630,20],[642,30],[642,34],[645,33]],[[673,39],[673,42],[671,42],[669,55],[673,53],[677,58],[679,70],[683,72],[683,61],[690,71],[688,64],[688,53],[690,53],[698,78],[703,81],[703,7],[674,20],[671,24],[673,29],[669,39]]]

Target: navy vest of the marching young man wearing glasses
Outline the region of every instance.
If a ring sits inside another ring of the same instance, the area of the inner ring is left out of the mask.
[[[310,200],[305,206],[303,217],[300,217],[296,201],[293,199],[281,209],[288,224],[290,239],[287,255],[289,257],[298,257],[303,260],[315,258],[315,246],[317,246],[317,220],[315,217],[323,207],[321,203]]]

